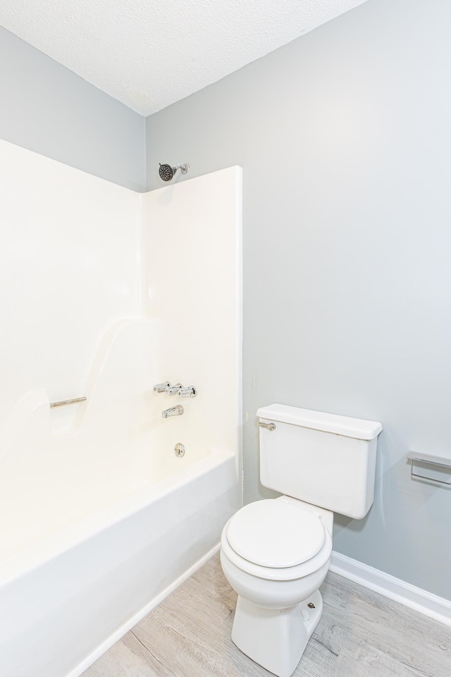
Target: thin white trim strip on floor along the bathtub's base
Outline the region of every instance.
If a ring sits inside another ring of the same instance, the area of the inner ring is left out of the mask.
[[[116,644],[118,640],[121,639],[125,635],[125,633],[128,633],[128,630],[130,630],[133,626],[135,626],[137,623],[139,623],[144,616],[147,616],[147,614],[152,611],[152,609],[155,608],[160,602],[163,602],[163,599],[168,597],[171,592],[173,592],[179,585],[182,585],[182,583],[187,580],[187,578],[190,578],[190,576],[193,575],[193,573],[196,573],[196,571],[201,568],[201,566],[204,566],[206,561],[208,561],[216,552],[218,552],[220,543],[215,545],[214,548],[212,548],[209,552],[207,552],[206,555],[204,555],[199,561],[197,561],[193,566],[191,566],[183,575],[181,575],[177,580],[174,581],[174,583],[171,583],[168,587],[166,587],[166,590],[163,590],[157,597],[154,597],[150,602],[148,602],[145,606],[140,609],[140,611],[137,611],[136,614],[128,618],[128,621],[125,621],[122,626],[117,628],[111,635],[109,635],[104,642],[101,642],[101,644],[94,649],[85,659],[82,660],[81,663],[78,664],[76,668],[71,670],[66,677],[80,677],[82,673],[85,672],[91,666],[95,661],[97,661],[98,658],[101,657],[102,654],[104,654],[108,649],[111,649],[113,644]]]

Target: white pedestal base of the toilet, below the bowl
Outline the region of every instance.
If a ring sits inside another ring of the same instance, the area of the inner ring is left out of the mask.
[[[314,604],[314,609],[309,609],[309,603]],[[243,654],[266,670],[277,677],[290,677],[322,611],[319,590],[289,609],[264,609],[238,595],[232,640]]]

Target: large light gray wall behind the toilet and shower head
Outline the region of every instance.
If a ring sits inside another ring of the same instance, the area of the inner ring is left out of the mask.
[[[451,454],[450,25],[369,0],[147,118],[148,188],[159,161],[244,168],[246,500],[259,405],[380,420],[375,504],[334,547],[448,599],[451,492],[405,456]]]

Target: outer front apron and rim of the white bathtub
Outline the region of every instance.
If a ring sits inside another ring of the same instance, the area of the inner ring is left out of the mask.
[[[4,558],[1,677],[78,677],[216,551],[240,506],[236,455],[169,461],[166,477]]]

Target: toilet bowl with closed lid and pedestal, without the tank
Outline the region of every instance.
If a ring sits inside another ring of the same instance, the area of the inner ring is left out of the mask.
[[[257,501],[221,536],[221,566],[238,594],[232,640],[278,677],[295,670],[319,622],[332,553],[329,511],[303,506],[288,496]]]

